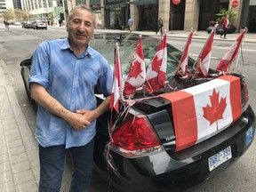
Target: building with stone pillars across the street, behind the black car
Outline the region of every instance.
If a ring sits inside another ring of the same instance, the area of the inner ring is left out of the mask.
[[[256,32],[256,0],[70,0],[65,15],[76,4],[88,4],[100,17],[101,28],[127,28],[129,17],[135,30],[156,30],[159,17],[166,30],[205,30],[222,8],[232,8],[237,15],[231,20],[238,32],[247,27]],[[65,4],[65,3],[64,3]]]

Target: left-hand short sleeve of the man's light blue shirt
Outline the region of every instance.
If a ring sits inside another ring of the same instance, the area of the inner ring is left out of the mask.
[[[47,50],[47,43],[44,42],[39,44],[32,55],[29,87],[31,83],[41,84],[45,89],[49,87],[50,62]]]

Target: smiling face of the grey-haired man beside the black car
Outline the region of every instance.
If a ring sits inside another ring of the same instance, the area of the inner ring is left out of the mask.
[[[68,40],[71,46],[87,46],[94,31],[93,21],[92,12],[86,10],[73,12],[73,17],[68,22],[67,28]]]

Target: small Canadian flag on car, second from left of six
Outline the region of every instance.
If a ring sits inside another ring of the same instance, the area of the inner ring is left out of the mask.
[[[144,84],[145,79],[146,68],[140,35],[132,54],[131,67],[124,83],[124,95],[130,95],[136,92],[136,89]]]

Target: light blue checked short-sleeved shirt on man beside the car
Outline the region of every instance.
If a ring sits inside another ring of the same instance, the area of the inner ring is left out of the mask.
[[[111,94],[113,71],[99,52],[88,46],[76,57],[68,38],[45,41],[32,57],[29,83],[44,86],[53,98],[65,108],[92,110],[97,107],[95,86],[105,97]],[[36,139],[43,147],[65,145],[66,148],[84,146],[96,133],[96,120],[83,131],[76,131],[59,116],[54,116],[41,106],[37,109]]]

